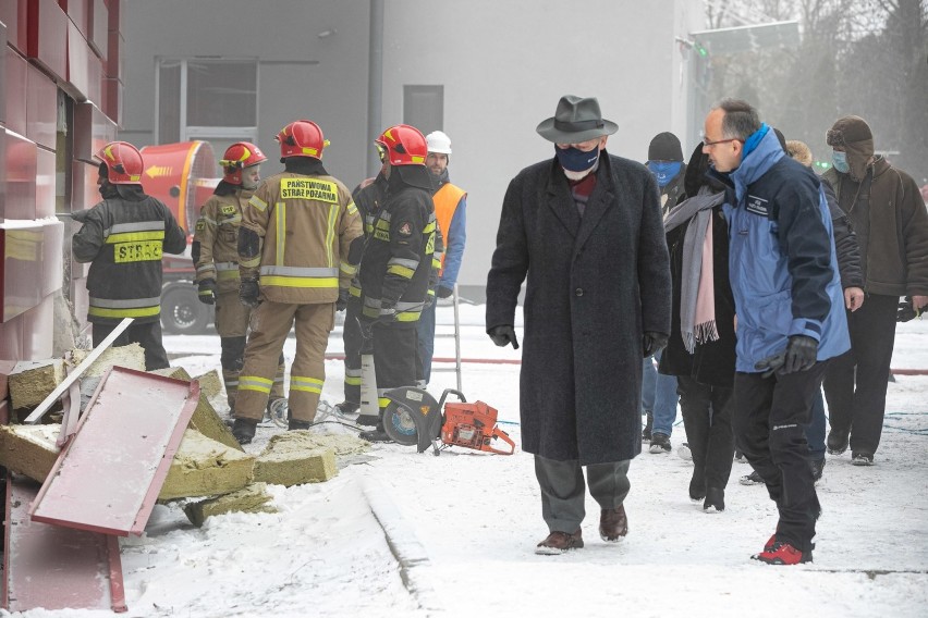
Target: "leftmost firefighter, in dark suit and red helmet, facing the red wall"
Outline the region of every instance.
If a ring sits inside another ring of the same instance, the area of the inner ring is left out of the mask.
[[[130,324],[114,346],[139,344],[145,369],[168,367],[161,343],[161,254],[183,254],[187,242],[171,211],[142,189],[142,153],[126,141],[107,144],[96,157],[103,201],[80,218],[74,259],[90,262],[87,275],[94,345],[123,320]]]

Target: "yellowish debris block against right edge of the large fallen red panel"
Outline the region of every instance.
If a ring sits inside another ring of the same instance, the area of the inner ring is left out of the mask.
[[[184,431],[158,499],[236,492],[252,482],[254,464],[254,455],[246,455],[188,429]]]

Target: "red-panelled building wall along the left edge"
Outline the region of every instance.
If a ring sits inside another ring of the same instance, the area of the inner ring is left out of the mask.
[[[86,270],[69,270],[72,224],[56,214],[97,201],[84,187],[94,146],[115,136],[119,8],[0,0],[0,359],[51,356],[54,296],[86,299]]]

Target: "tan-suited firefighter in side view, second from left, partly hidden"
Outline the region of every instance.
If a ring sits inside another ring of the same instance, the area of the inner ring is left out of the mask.
[[[219,164],[223,176],[203,205],[196,222],[193,254],[196,268],[197,298],[216,305],[216,332],[222,346],[222,381],[230,413],[235,416],[239,372],[245,357],[251,307],[239,301],[239,225],[242,210],[260,182],[264,152],[247,141],[233,144]],[[268,409],[283,397],[283,353],[278,358],[277,375],[270,392]]]

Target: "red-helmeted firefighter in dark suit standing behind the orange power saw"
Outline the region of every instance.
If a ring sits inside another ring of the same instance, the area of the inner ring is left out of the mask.
[[[387,200],[374,222],[374,233],[358,271],[363,327],[371,329],[379,395],[370,442],[387,442],[384,391],[416,384],[419,361],[416,322],[426,306],[436,244],[431,180],[425,166],[426,140],[415,127],[392,126],[375,140],[384,162]]]

